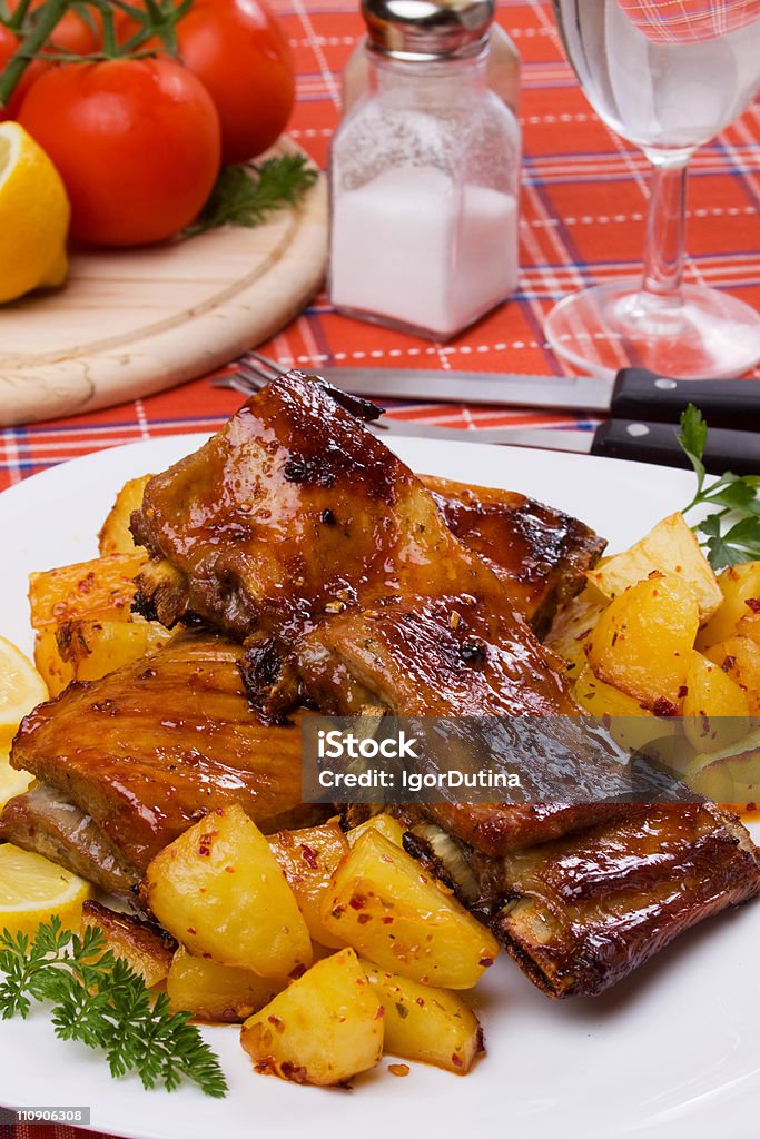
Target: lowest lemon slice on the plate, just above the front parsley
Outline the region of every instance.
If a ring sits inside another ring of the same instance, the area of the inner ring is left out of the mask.
[[[77,929],[82,903],[91,893],[89,882],[41,854],[10,843],[0,846],[0,931],[33,936],[54,913],[64,926]]]

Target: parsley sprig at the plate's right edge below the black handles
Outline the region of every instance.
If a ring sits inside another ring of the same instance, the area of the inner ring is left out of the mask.
[[[680,417],[678,442],[694,467],[696,493],[681,514],[696,507],[714,507],[692,530],[705,547],[713,570],[760,558],[760,475],[734,475],[730,470],[705,486],[702,462],[708,425],[702,412],[689,403]]]

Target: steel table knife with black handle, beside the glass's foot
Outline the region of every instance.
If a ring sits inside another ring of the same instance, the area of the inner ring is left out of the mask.
[[[760,428],[760,380],[673,379],[646,368],[622,368],[612,386],[597,376],[435,371],[416,368],[316,368],[354,395],[379,400],[490,403],[513,408],[589,411],[618,419],[677,423],[688,403],[711,427]]]

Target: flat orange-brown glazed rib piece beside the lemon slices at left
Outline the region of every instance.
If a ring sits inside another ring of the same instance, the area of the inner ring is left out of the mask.
[[[300,732],[267,729],[251,712],[240,653],[214,633],[185,632],[101,680],[72,685],[26,716],[13,763],[74,804],[90,835],[138,877],[224,803],[240,803],[264,830],[312,822],[321,812],[301,804]],[[41,829],[49,838],[52,825],[41,828],[39,803],[24,798],[3,813],[0,837],[22,841],[31,826],[22,845],[40,849]],[[60,828],[58,841],[72,865]]]

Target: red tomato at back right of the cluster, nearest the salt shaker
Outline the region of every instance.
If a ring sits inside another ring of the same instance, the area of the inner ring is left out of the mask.
[[[138,26],[117,19],[120,41]],[[291,116],[295,72],[285,32],[263,0],[195,0],[177,25],[177,43],[219,112],[223,162],[246,162],[270,147]]]

